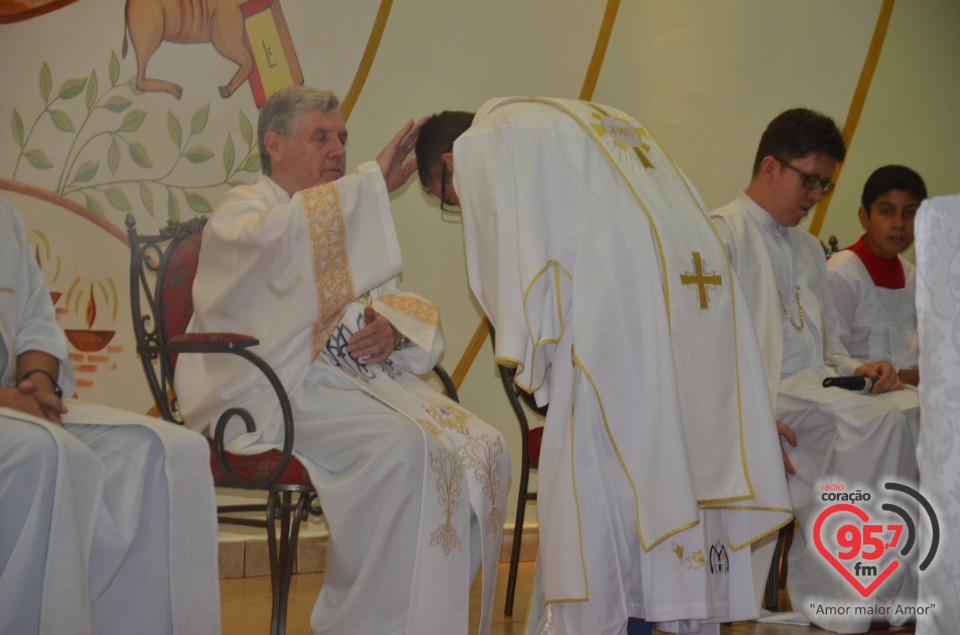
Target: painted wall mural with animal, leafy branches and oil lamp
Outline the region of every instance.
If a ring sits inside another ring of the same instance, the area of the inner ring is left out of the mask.
[[[386,18],[380,0],[286,4],[0,0],[0,195],[27,226],[81,398],[151,405],[129,324],[126,215],[153,233],[209,214],[260,170],[266,99],[304,70],[345,97]],[[318,54],[318,35],[336,59]]]

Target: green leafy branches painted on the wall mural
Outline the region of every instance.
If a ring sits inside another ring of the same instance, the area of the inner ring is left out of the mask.
[[[223,144],[223,178],[208,183],[187,184],[182,174],[191,164],[201,164],[215,158],[216,153],[197,142],[197,138],[207,126],[210,104],[201,107],[193,114],[189,126],[172,113],[167,113],[167,133],[176,146],[176,155],[166,167],[155,165],[147,146],[135,137],[144,121],[150,116],[145,110],[133,108],[134,99],[142,93],[136,89],[136,77],[130,77],[124,83],[118,83],[120,62],[116,53],[110,54],[108,77],[110,84],[101,92],[96,70],[89,77],[68,79],[53,93],[53,76],[46,63],[40,69],[40,98],[43,109],[30,123],[24,124],[20,113],[14,109],[12,118],[13,139],[19,147],[19,155],[13,169],[13,179],[27,163],[37,170],[56,170],[59,166],[54,192],[63,197],[81,200],[83,205],[94,214],[104,217],[104,206],[120,212],[133,209],[131,196],[139,195],[140,203],[151,216],[155,215],[158,203],[166,203],[167,216],[174,221],[180,220],[181,204],[185,203],[197,214],[208,214],[212,210],[204,191],[233,186],[244,182],[241,173],[253,173],[260,169],[260,156],[255,148],[253,127],[250,119],[240,111],[239,135],[242,144],[234,144],[232,133],[227,133]],[[75,100],[83,95],[83,107]],[[72,102],[72,103],[68,103]],[[72,113],[68,113],[70,110]],[[79,113],[77,112],[79,111]],[[106,112],[119,118],[109,129],[97,129],[94,120],[97,112]],[[31,139],[41,124],[52,123],[61,132],[73,135],[72,141],[56,144],[57,151],[66,149],[60,163],[51,155],[54,150],[45,151],[33,146]],[[186,134],[184,130],[186,129]],[[103,156],[104,148],[106,155]],[[99,153],[99,154],[98,154]],[[126,157],[129,157],[127,160]],[[132,165],[131,165],[132,162]],[[119,178],[117,172],[121,165],[129,173],[144,172],[142,177]],[[178,168],[181,168],[178,170]],[[247,179],[249,180],[249,179]]]

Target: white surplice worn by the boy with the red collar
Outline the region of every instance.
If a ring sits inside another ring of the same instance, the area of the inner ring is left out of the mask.
[[[853,357],[888,361],[895,368],[916,370],[920,345],[917,336],[917,269],[903,265],[902,289],[874,284],[856,252],[845,249],[827,261],[830,295],[840,318],[840,341]]]

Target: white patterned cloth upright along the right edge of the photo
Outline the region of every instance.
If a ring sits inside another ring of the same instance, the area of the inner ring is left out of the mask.
[[[960,195],[925,200],[917,212],[917,318],[920,326],[920,481],[939,517],[940,542],[920,573],[919,604],[936,605],[917,617],[917,635],[942,635],[960,624]],[[926,514],[921,535],[931,536]],[[923,543],[926,553],[931,543]]]

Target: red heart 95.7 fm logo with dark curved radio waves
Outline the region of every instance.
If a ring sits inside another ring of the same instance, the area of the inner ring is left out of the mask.
[[[912,487],[900,483],[886,483],[884,487],[911,497],[919,503],[930,521],[930,547],[920,563],[920,571],[925,571],[940,543],[937,514],[930,502]],[[896,516],[899,522],[871,522],[870,515],[860,507],[838,503],[824,509],[813,528],[817,550],[865,598],[872,595],[894,571],[905,566],[915,546],[920,548],[916,523],[910,514],[891,503],[884,503],[881,509]],[[822,534],[825,524],[828,525],[828,536],[835,538],[835,541],[831,541],[835,545],[824,544]],[[840,527],[833,533],[832,529],[838,524]]]

